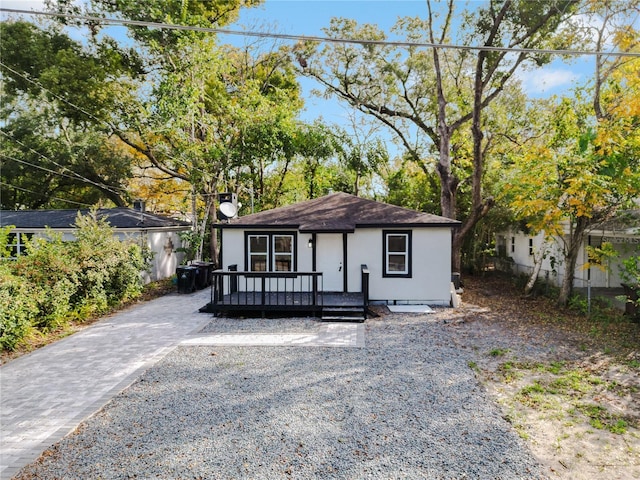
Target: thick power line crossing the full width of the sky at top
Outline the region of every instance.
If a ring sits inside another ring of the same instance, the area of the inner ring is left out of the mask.
[[[556,49],[536,49],[536,48],[511,48],[511,47],[488,47],[488,46],[470,46],[470,45],[452,45],[446,43],[430,43],[430,42],[407,42],[407,41],[395,41],[395,40],[365,40],[365,39],[353,39],[353,38],[331,38],[331,37],[319,37],[319,36],[307,36],[307,35],[290,35],[283,33],[269,33],[269,32],[255,32],[255,31],[239,31],[229,30],[224,28],[210,28],[210,27],[198,27],[192,25],[178,25],[158,22],[146,22],[141,20],[125,20],[106,17],[93,17],[89,15],[74,15],[70,13],[55,13],[55,12],[40,12],[34,10],[19,10],[15,8],[2,8],[0,11],[8,13],[19,13],[25,15],[41,15],[47,17],[62,17],[73,20],[83,20],[98,24],[110,24],[110,25],[133,25],[139,27],[151,27],[158,29],[168,30],[187,30],[194,32],[204,33],[218,33],[224,35],[238,35],[244,37],[258,37],[258,38],[275,38],[279,40],[296,40],[304,42],[316,42],[316,43],[348,43],[356,45],[387,45],[392,47],[422,47],[422,48],[440,48],[451,50],[478,50],[478,51],[491,51],[491,52],[515,52],[515,53],[543,53],[551,55],[593,55],[593,56],[613,56],[613,57],[635,57],[640,58],[640,52],[594,52],[591,50],[556,50]]]

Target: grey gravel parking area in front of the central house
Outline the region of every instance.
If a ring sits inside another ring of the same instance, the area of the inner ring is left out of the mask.
[[[369,319],[365,348],[179,347],[16,478],[546,478],[451,312]],[[203,333],[321,325],[223,318]]]

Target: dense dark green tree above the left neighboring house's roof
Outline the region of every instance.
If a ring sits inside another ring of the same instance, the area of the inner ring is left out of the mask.
[[[134,88],[133,57],[26,22],[0,28],[3,207],[125,205],[129,160],[103,133],[102,119],[114,98]]]

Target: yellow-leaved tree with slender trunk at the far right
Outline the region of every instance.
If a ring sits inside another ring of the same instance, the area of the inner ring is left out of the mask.
[[[633,18],[629,15],[638,2],[588,6],[591,15],[602,15],[586,27],[596,28],[598,51],[607,34],[619,50],[638,51],[638,32],[620,22]],[[593,87],[551,106],[539,141],[516,160],[509,184],[518,217],[560,241],[565,270],[561,305],[572,295],[573,272],[589,230],[633,207],[640,196],[640,60],[597,58]]]

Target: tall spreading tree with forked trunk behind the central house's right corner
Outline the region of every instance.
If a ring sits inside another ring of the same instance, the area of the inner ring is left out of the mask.
[[[435,11],[428,1],[425,20],[401,19],[394,33],[412,42],[446,44],[454,31],[455,3],[449,0],[442,11]],[[492,0],[473,12],[464,12],[459,43],[521,49],[515,53],[486,49],[427,51],[417,47],[401,51],[365,43],[386,36],[371,25],[358,27],[349,20],[335,20],[327,33],[333,38],[362,41],[362,45],[331,43],[318,52],[315,45],[306,44],[296,50],[303,73],[315,78],[327,95],[348,102],[387,126],[425,171],[430,170],[431,161],[435,162],[442,215],[461,216],[457,192],[461,183],[470,183],[471,205],[453,237],[455,269],[460,268],[464,237],[494,203],[482,192],[485,111],[520,67],[527,63],[541,66],[550,60],[535,50],[561,44],[565,32],[559,26],[576,7],[572,1]],[[457,146],[452,139],[469,128],[472,165],[462,176],[461,171],[454,173]]]

